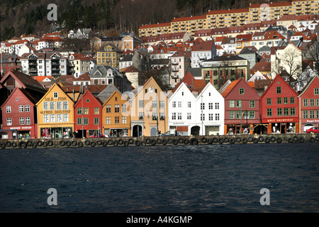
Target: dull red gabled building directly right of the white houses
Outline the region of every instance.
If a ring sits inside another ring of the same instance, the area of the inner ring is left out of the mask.
[[[253,83],[240,78],[222,92],[225,99],[225,134],[261,133],[260,96]]]

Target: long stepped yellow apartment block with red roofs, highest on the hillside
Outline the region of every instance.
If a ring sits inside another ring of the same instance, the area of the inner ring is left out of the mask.
[[[278,20],[285,15],[315,15],[319,13],[318,0],[292,0],[279,3],[250,4],[248,9],[208,11],[203,16],[174,18],[169,23],[143,25],[140,37],[165,33],[187,32],[194,36],[196,31],[229,26],[244,26],[247,23]]]

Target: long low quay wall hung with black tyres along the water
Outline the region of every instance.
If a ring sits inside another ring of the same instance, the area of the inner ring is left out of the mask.
[[[319,135],[272,134],[272,135],[202,135],[123,138],[69,138],[0,140],[0,149],[26,148],[74,148],[74,147],[116,147],[152,145],[214,145],[238,143],[319,143]]]

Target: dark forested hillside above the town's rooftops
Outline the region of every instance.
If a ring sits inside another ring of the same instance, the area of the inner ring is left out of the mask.
[[[42,35],[92,28],[101,33],[135,31],[142,24],[165,23],[174,17],[197,16],[208,10],[247,8],[267,0],[1,0],[0,38]],[[277,0],[281,1],[281,0]],[[276,2],[276,1],[273,1]],[[48,4],[57,5],[57,23],[47,20]]]

